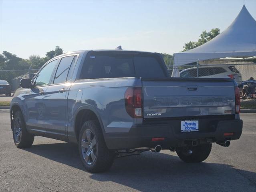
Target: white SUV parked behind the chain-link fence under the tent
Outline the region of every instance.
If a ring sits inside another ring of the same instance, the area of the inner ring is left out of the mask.
[[[196,77],[196,67],[184,69],[179,72],[180,77]],[[242,82],[242,75],[235,66],[199,66],[198,77],[204,78],[232,78],[238,84]]]

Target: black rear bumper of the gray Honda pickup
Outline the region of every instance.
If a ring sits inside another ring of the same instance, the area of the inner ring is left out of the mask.
[[[174,127],[174,125],[176,126]],[[150,147],[161,145],[162,149],[171,147],[190,146],[192,140],[197,144],[222,142],[224,140],[239,139],[242,134],[242,120],[220,120],[214,122],[212,130],[181,133],[177,122],[170,121],[163,124],[143,124],[133,126],[129,133],[105,134],[105,142],[111,150]],[[215,124],[215,125],[214,125]],[[215,127],[214,127],[215,126]],[[233,133],[224,136],[224,133]],[[163,141],[151,141],[152,138],[164,137]]]

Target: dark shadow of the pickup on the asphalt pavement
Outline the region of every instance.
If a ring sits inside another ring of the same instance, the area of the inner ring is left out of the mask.
[[[77,145],[69,143],[33,145],[26,151],[84,170]],[[115,159],[108,172],[90,174],[102,182],[115,182],[139,191],[255,191],[256,173],[227,164],[187,164],[174,152],[144,152]],[[168,154],[165,154],[168,153]],[[106,189],[107,190],[107,189]],[[121,190],[121,189],[120,189]],[[127,190],[127,188],[126,188]]]

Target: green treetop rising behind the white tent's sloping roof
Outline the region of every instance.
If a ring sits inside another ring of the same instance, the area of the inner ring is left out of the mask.
[[[189,41],[189,42],[185,43],[185,45],[183,46],[183,48],[184,48],[183,51],[194,49],[194,48],[212,40],[218,34],[220,34],[220,29],[219,28],[212,29],[209,32],[203,31],[202,34],[200,34],[200,39],[198,39],[197,42]]]

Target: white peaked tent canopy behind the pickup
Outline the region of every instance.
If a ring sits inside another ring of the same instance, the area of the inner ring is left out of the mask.
[[[236,19],[221,34],[197,48],[175,53],[174,66],[215,58],[253,56],[256,56],[256,21],[243,6]]]

